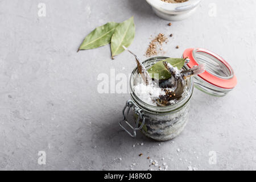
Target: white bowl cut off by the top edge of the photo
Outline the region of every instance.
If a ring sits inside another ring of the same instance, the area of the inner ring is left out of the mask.
[[[181,3],[167,3],[160,0],[146,0],[160,18],[179,21],[193,14],[201,0],[188,0]]]

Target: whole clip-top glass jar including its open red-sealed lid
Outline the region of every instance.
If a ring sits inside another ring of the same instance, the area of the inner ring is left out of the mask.
[[[139,74],[137,68],[134,69],[130,77],[129,87],[131,100],[126,102],[123,108],[123,120],[119,122],[119,125],[131,137],[136,137],[136,131],[141,130],[144,135],[155,140],[173,139],[183,131],[187,124],[193,85],[212,96],[225,96],[236,86],[237,78],[232,67],[216,53],[203,48],[188,48],[183,52],[183,58],[186,57],[190,61],[184,65],[183,69],[189,69],[204,63],[205,72],[193,78],[187,78],[184,96],[175,104],[164,107],[149,105],[136,96],[134,86],[138,84]],[[143,64],[146,69],[149,69],[156,62],[167,58],[152,57],[144,61]],[[133,109],[137,114],[134,127],[127,122],[130,109]]]

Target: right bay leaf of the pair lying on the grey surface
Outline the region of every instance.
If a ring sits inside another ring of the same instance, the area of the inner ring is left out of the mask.
[[[133,16],[125,22],[119,23],[111,39],[112,59],[125,51],[122,46],[129,47],[135,36]]]

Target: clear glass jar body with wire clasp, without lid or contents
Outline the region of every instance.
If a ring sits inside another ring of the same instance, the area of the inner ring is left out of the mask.
[[[143,62],[146,69],[150,68],[156,62],[167,59],[168,57],[152,57]],[[119,125],[123,127],[132,137],[136,136],[136,130],[141,130],[144,135],[158,141],[170,140],[175,138],[183,131],[188,121],[189,102],[193,93],[193,79],[186,81],[185,96],[172,105],[159,107],[149,105],[143,102],[134,93],[134,86],[138,83],[137,68],[131,73],[130,77],[130,96],[131,100],[126,102],[123,109],[123,120]],[[127,115],[132,108],[138,115],[135,127],[127,122]],[[131,132],[123,124],[131,128]]]

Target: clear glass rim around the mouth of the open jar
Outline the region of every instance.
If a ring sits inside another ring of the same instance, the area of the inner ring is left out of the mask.
[[[147,68],[149,66],[152,66],[152,63],[167,59],[169,57],[164,57],[164,56],[156,56],[156,57],[151,57],[150,59],[147,59],[142,62],[144,66]],[[187,69],[183,67],[184,69]],[[187,94],[179,100],[179,102],[176,102],[175,104],[164,106],[164,107],[159,107],[159,106],[154,106],[147,104],[146,102],[142,101],[135,93],[134,93],[134,85],[133,85],[133,78],[135,74],[138,73],[138,67],[134,68],[133,72],[131,72],[130,76],[130,96],[132,100],[137,104],[141,109],[144,111],[147,111],[149,113],[170,113],[171,111],[179,110],[181,107],[184,105],[187,105],[188,101],[191,99],[192,93],[193,93],[193,78],[189,77],[189,87],[188,87],[188,92]]]

